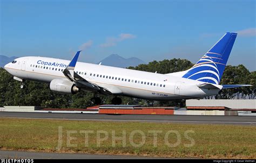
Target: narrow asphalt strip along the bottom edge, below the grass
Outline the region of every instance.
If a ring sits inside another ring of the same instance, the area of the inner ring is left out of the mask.
[[[165,159],[131,155],[0,151],[0,159]]]

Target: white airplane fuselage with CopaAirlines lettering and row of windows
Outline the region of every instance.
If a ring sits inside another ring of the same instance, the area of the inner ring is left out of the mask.
[[[26,56],[8,63],[5,69],[23,80],[50,83],[53,79],[66,79],[63,70],[69,60]],[[113,95],[123,95],[149,100],[178,100],[202,98],[218,94],[217,90],[201,89],[203,82],[179,76],[157,74],[91,63],[77,62],[75,72],[85,80],[100,87],[119,90]]]

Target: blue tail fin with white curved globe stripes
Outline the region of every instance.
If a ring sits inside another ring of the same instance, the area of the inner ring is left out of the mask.
[[[237,33],[227,32],[183,77],[219,84],[235,38]]]

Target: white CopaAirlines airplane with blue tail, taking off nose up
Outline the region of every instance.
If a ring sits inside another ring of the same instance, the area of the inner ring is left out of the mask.
[[[63,94],[93,91],[91,101],[96,105],[101,103],[97,94],[112,95],[116,105],[122,103],[118,96],[155,101],[200,99],[226,88],[251,86],[219,84],[236,37],[237,33],[225,33],[192,68],[170,74],[77,62],[81,51],[71,61],[25,56],[6,64],[4,69],[22,82],[21,88],[25,80],[32,80],[50,83],[52,91]]]

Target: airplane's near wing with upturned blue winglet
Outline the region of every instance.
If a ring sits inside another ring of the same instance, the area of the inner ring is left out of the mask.
[[[116,88],[114,86],[110,86],[109,84],[100,84],[102,86],[99,86],[99,84],[85,80],[82,76],[78,75],[74,71],[80,52],[81,51],[78,51],[76,53],[76,55],[70,61],[68,67],[66,67],[64,69],[63,74],[66,76],[66,78],[72,82],[75,82],[75,84],[78,88],[94,90],[94,91],[98,91],[98,93],[107,94],[107,95],[112,95],[112,94],[118,93],[118,90],[119,90],[118,88]]]

